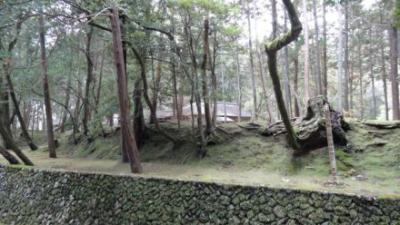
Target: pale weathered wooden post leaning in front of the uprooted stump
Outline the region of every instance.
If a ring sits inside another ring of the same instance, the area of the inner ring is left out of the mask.
[[[325,103],[324,105],[324,112],[325,112],[325,128],[326,128],[326,139],[328,142],[329,162],[331,164],[331,174],[333,181],[337,183],[334,135],[332,134],[331,113],[329,112],[328,103]]]

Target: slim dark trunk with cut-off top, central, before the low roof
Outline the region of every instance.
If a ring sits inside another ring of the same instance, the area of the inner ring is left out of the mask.
[[[211,112],[210,112],[210,96],[208,94],[208,84],[207,84],[207,58],[208,58],[208,49],[210,48],[208,44],[208,33],[210,29],[210,24],[208,20],[208,15],[205,15],[205,34],[203,40],[203,61],[201,64],[202,69],[202,86],[203,86],[203,100],[205,102],[205,132],[207,134],[213,132],[213,122],[211,121]]]

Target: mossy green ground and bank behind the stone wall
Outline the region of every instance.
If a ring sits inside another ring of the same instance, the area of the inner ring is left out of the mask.
[[[165,130],[186,140],[175,146],[153,127],[141,150],[144,177],[190,181],[213,181],[229,184],[263,185],[315,191],[335,191],[365,196],[400,199],[400,129],[379,130],[354,119],[346,119],[351,131],[346,133],[354,151],[336,147],[339,180],[345,185],[329,185],[329,160],[325,148],[300,157],[285,144],[285,135],[265,137],[248,131],[236,123],[221,124],[230,132],[217,132],[207,147],[207,156],[195,157],[190,124],[180,130],[172,123],[163,123]],[[79,136],[77,145],[68,133],[57,133],[60,142],[58,158],[49,159],[43,132],[34,134],[41,144],[39,151],[25,149],[36,168],[66,171],[87,171],[130,174],[129,166],[120,161],[119,132],[107,138],[87,142]],[[20,145],[24,142],[20,141]],[[0,163],[6,163],[0,158]]]

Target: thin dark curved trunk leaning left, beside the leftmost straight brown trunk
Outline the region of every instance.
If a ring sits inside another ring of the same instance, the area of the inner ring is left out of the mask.
[[[29,148],[32,151],[35,151],[35,150],[37,150],[37,146],[35,145],[34,141],[32,140],[31,136],[29,135],[29,132],[27,131],[23,115],[22,115],[21,111],[19,110],[18,101],[16,100],[13,81],[11,80],[10,64],[4,64],[4,67],[5,67],[4,68],[5,69],[5,78],[7,79],[8,89],[10,91],[11,100],[13,101],[13,104],[14,104],[15,114],[18,118],[19,124],[21,125],[23,137],[24,137],[25,141],[28,143]]]

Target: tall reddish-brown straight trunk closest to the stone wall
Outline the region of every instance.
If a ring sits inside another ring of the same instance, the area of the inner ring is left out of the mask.
[[[121,134],[125,137],[126,149],[128,150],[129,164],[132,172],[140,173],[143,171],[142,163],[139,160],[135,134],[132,127],[131,118],[128,110],[127,83],[125,78],[124,54],[122,48],[121,30],[119,25],[118,10],[114,7],[111,10],[111,29],[113,34],[113,45],[116,66],[116,83],[118,89],[118,100],[121,113]]]

